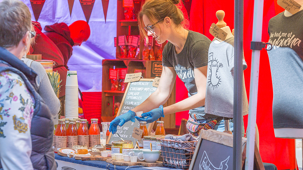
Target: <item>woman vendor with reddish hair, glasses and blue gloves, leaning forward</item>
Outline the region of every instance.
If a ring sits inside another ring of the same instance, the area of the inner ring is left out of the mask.
[[[187,129],[193,135],[207,127],[224,131],[224,120],[204,111],[207,81],[208,48],[211,40],[203,34],[186,30],[183,13],[176,4],[179,0],[149,0],[138,14],[139,28],[148,41],[148,36],[155,37],[157,43],[165,41],[162,53],[163,71],[157,90],[142,104],[127,113],[116,117],[109,131],[116,133],[117,126],[135,118],[139,121],[153,122],[166,114],[189,110]],[[176,76],[184,82],[188,98],[170,106],[164,104],[173,89]],[[135,117],[135,112],[143,111],[142,117]],[[231,131],[233,124],[230,125]]]

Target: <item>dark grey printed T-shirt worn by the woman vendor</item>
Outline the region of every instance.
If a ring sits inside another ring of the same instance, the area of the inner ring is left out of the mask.
[[[211,43],[205,35],[189,30],[183,50],[176,54],[175,46],[168,42],[162,53],[162,65],[174,67],[178,77],[184,82],[188,91],[188,97],[197,94],[194,69],[207,65],[208,47]],[[190,114],[198,114],[204,117],[204,106],[189,110]]]

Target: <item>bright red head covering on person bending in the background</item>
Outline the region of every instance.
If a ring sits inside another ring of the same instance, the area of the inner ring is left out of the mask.
[[[81,46],[91,34],[91,30],[86,21],[75,21],[70,24],[68,28],[71,31],[71,38],[75,43],[74,46]]]

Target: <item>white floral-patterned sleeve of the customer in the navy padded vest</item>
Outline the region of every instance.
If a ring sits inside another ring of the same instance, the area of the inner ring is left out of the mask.
[[[32,170],[34,100],[21,77],[0,73],[0,161],[2,168]]]

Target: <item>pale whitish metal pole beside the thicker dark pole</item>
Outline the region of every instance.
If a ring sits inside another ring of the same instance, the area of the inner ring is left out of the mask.
[[[252,41],[261,42],[264,0],[255,0]],[[260,50],[252,50],[245,170],[254,169]]]

